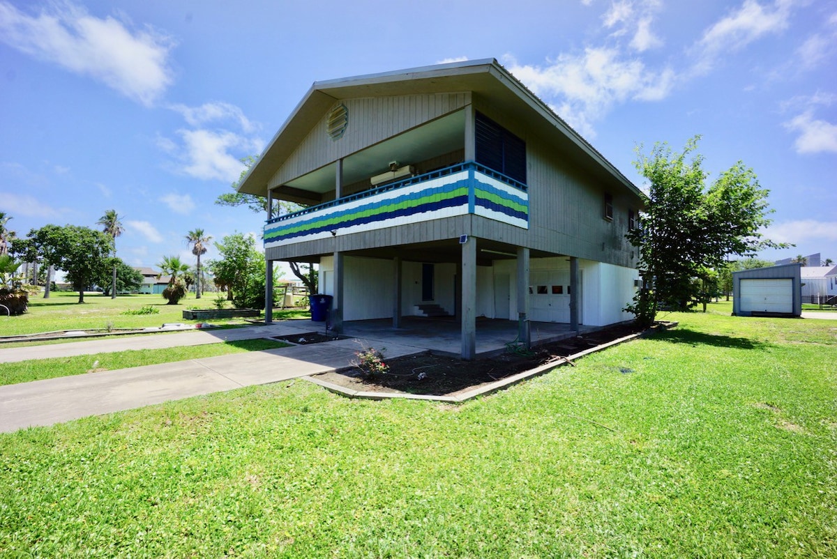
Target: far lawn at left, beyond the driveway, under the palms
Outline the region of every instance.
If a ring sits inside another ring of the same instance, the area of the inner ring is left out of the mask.
[[[182,311],[197,307],[213,309],[214,297],[204,295],[200,300],[189,296],[179,305],[168,305],[162,295],[119,295],[110,299],[100,293],[85,295],[85,302],[78,304],[79,294],[66,291],[53,292],[49,299],[34,296],[29,300],[28,312],[19,316],[0,316],[0,333],[4,336],[33,334],[46,331],[81,330],[86,328],[144,328],[160,326],[165,322],[194,324],[199,321],[183,319]],[[154,314],[125,314],[143,307],[158,310]],[[275,311],[275,320],[310,316],[306,310]],[[213,319],[220,326],[247,324],[244,319]]]

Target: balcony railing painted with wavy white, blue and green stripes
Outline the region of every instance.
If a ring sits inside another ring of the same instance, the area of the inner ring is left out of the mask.
[[[264,247],[467,214],[528,228],[526,185],[475,162],[459,163],[270,219]]]

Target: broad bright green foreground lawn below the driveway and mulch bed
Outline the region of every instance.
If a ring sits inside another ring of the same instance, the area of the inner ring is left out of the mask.
[[[0,435],[0,555],[837,555],[837,322],[712,308],[460,406],[296,381]]]

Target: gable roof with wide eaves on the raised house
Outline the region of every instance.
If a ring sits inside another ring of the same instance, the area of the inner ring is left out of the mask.
[[[573,156],[586,171],[616,179],[635,195],[644,197],[633,182],[496,59],[468,60],[314,82],[239,183],[239,192],[266,196],[267,183],[275,170],[285,163],[337,100],[452,91],[472,91],[490,99],[510,115],[526,121],[552,145]]]

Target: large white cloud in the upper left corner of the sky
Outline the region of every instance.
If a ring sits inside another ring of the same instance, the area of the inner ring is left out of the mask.
[[[36,16],[0,2],[0,40],[13,49],[89,75],[142,105],[172,83],[172,39],[151,28],[131,30],[114,18],[60,3]]]

